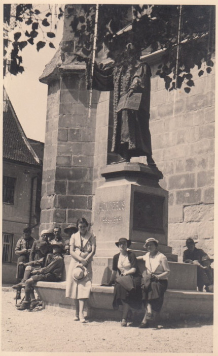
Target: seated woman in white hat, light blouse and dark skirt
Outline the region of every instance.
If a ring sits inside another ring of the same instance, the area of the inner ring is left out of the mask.
[[[142,278],[142,301],[146,313],[139,328],[148,328],[148,321],[153,320],[161,311],[170,269],[166,256],[158,251],[158,240],[147,239],[143,247],[149,252],[136,257],[137,260],[144,260],[147,271],[147,276]]]

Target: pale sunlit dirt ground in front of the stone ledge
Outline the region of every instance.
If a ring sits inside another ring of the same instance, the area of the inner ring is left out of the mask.
[[[21,352],[194,352],[211,353],[213,325],[209,322],[160,324],[122,328],[118,321],[73,321],[70,310],[38,307],[19,311],[15,291],[2,292],[2,351]]]

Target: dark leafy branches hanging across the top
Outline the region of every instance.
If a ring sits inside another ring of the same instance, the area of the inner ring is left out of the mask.
[[[75,51],[84,58],[92,58],[96,5],[82,5],[78,15],[75,15],[75,5],[67,5],[66,10],[65,16],[72,18],[70,26],[76,40]],[[57,18],[63,15],[61,11]],[[17,6],[16,22],[25,21],[31,31],[26,31],[26,41],[22,42],[19,42],[20,32],[15,34],[10,68],[13,74],[23,71],[19,51],[28,43],[34,44],[39,28],[49,28],[51,13],[41,20],[37,18],[39,15],[40,11],[33,9],[31,4]],[[37,49],[43,48],[47,42],[54,48],[50,41],[53,37],[55,34],[48,31],[44,40],[37,43]],[[185,83],[184,90],[189,93],[195,85],[191,73],[195,66],[199,77],[204,71],[212,71],[214,39],[215,6],[99,5],[96,55],[100,55],[106,46],[108,57],[118,64],[122,62],[124,47],[129,42],[142,53],[162,50],[156,74],[164,79],[169,91]]]

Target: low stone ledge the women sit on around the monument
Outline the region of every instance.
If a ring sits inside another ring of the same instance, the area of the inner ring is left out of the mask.
[[[44,302],[46,309],[75,309],[74,300],[65,298],[66,282],[38,282],[35,290]],[[93,284],[90,299],[86,305],[88,317],[120,320],[121,310],[113,310],[114,287],[103,287]],[[72,313],[73,314],[73,313]],[[143,310],[134,312],[134,317],[142,318]],[[193,290],[168,289],[164,296],[164,304],[160,313],[163,320],[213,318],[213,293]]]

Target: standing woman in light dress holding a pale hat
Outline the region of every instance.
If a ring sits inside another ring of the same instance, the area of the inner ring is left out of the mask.
[[[96,238],[87,230],[88,222],[85,218],[77,220],[78,232],[71,235],[69,246],[71,261],[66,277],[66,298],[75,301],[76,315],[74,320],[85,322],[84,305],[89,298],[92,285],[92,257],[96,250]],[[83,265],[88,274],[83,279],[74,278],[74,270]]]

